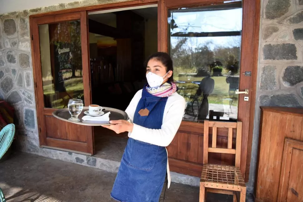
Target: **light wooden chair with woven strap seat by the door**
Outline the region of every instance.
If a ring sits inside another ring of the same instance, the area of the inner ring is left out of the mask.
[[[208,146],[209,127],[212,127],[212,145]],[[217,128],[228,128],[227,149],[217,148]],[[236,128],[236,149],[232,149],[232,130]],[[239,169],[241,156],[242,122],[204,121],[203,169],[200,179],[200,202],[206,201],[206,192],[233,195],[245,202],[246,185]],[[235,166],[208,164],[208,152],[235,154]],[[240,194],[240,197],[238,195]]]

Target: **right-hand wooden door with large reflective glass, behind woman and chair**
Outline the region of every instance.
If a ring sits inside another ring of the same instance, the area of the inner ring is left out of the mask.
[[[178,92],[187,101],[179,131],[167,147],[172,171],[201,175],[203,120],[238,120],[243,123],[240,169],[248,180],[258,6],[258,0],[159,0],[158,50],[171,55]],[[248,94],[237,93],[246,89]],[[218,131],[217,147],[227,148],[227,136],[227,130]],[[209,158],[232,165],[235,157]]]

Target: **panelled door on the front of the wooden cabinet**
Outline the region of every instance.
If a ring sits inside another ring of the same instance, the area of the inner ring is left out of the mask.
[[[278,202],[303,201],[303,142],[285,139]]]

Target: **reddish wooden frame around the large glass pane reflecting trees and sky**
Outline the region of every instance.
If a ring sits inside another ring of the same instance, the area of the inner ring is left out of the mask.
[[[179,7],[198,7],[206,5],[223,4],[225,0],[159,0],[158,2],[158,51],[168,52],[168,10]],[[231,2],[232,3],[232,2]],[[244,94],[239,95],[238,120],[242,121],[242,141],[241,141],[241,165],[240,170],[244,178],[248,181],[249,167],[251,161],[252,132],[254,125],[254,113],[256,102],[256,75],[257,58],[259,45],[259,21],[260,21],[260,0],[242,0],[242,34],[241,34],[241,60],[240,60],[240,84],[239,90],[249,90],[249,101],[244,101]],[[254,26],[251,26],[254,25]],[[245,48],[246,47],[246,48]],[[247,48],[251,47],[251,48]],[[253,56],[253,57],[251,57]],[[245,58],[245,59],[243,59]],[[244,76],[242,73],[251,71],[251,76]],[[247,96],[247,95],[246,95]],[[201,123],[190,123],[182,121],[182,125],[195,125],[202,128]],[[180,128],[181,128],[180,127]],[[201,129],[202,131],[202,129]],[[185,132],[185,131],[182,131]],[[191,133],[191,131],[186,131]],[[178,134],[177,134],[178,135]],[[190,137],[188,137],[190,138]],[[200,155],[199,155],[200,156]],[[171,159],[179,161],[178,159]],[[185,170],[188,165],[178,170]]]

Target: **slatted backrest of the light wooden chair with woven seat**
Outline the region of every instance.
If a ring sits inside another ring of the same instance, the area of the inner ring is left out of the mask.
[[[212,128],[212,145],[208,146],[209,127]],[[217,148],[217,128],[228,128],[227,149]],[[232,149],[232,130],[236,128],[236,148]],[[242,122],[204,121],[203,164],[208,162],[208,152],[235,154],[235,166],[240,167]]]

